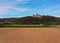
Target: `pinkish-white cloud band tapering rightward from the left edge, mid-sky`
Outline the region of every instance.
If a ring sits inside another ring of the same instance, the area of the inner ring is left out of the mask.
[[[6,15],[6,14],[11,14],[12,13],[22,13],[25,11],[29,11],[30,9],[28,8],[18,8],[18,7],[13,7],[13,6],[0,6],[0,15]],[[14,12],[15,11],[15,12]]]

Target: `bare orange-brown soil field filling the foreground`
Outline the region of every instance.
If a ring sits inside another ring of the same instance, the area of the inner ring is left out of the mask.
[[[60,43],[60,28],[0,28],[0,43]]]

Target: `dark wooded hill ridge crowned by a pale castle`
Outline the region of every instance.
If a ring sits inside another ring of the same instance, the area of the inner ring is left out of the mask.
[[[60,25],[60,18],[54,16],[33,15],[21,18],[1,18],[0,25]]]

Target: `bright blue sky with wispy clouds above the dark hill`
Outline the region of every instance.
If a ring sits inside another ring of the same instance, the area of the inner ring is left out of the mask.
[[[0,18],[31,16],[35,13],[60,17],[60,0],[0,0]]]

